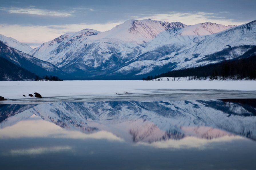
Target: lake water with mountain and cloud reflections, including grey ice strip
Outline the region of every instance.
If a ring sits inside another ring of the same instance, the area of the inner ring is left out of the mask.
[[[160,89],[4,101],[1,169],[255,169],[255,98]]]

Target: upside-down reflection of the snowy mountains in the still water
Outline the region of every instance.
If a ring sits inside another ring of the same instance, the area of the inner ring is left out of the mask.
[[[0,107],[0,111],[6,107]],[[255,108],[221,100],[61,102],[9,108],[9,112],[0,112],[1,128],[35,114],[65,129],[84,133],[104,130],[130,142],[180,140],[186,136],[211,140],[234,134],[256,139]]]

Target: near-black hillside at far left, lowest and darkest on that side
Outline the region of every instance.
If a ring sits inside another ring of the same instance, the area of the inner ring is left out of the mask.
[[[0,81],[33,80],[36,75],[0,57]]]

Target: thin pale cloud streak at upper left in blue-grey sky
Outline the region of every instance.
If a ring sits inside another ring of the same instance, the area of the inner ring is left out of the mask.
[[[55,16],[55,17],[69,17],[74,13],[74,11],[64,12],[64,11],[51,11],[47,9],[38,9],[38,8],[5,8],[1,7],[0,10],[8,11],[9,13],[17,13],[17,14],[30,14],[30,15],[47,15],[47,16]]]

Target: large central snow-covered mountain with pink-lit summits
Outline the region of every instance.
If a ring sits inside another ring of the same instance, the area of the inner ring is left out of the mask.
[[[139,75],[173,63],[164,56],[174,56],[187,44],[191,46],[190,41],[196,44],[195,37],[232,27],[209,22],[188,26],[151,19],[128,20],[106,32],[85,29],[64,34],[29,54],[78,77],[131,72]]]

